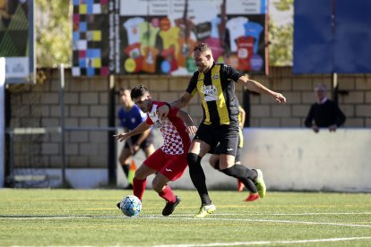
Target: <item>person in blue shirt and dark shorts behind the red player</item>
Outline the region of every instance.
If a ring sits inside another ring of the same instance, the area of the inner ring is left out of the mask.
[[[141,109],[136,106],[130,97],[129,89],[120,89],[120,96],[123,106],[117,112],[117,117],[120,122],[120,126],[124,128],[125,132],[134,130],[139,124],[141,124],[147,118]],[[153,134],[151,129],[145,132],[139,133],[132,136],[125,141],[124,148],[121,151],[119,162],[123,167],[128,186],[126,189],[133,188],[133,181],[129,178],[130,164],[133,156],[142,149],[145,157],[148,158],[155,151],[153,146]]]

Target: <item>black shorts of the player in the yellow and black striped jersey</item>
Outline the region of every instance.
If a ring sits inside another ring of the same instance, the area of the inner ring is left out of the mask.
[[[236,157],[238,144],[238,124],[208,125],[200,124],[194,139],[210,145],[209,153],[229,154]]]

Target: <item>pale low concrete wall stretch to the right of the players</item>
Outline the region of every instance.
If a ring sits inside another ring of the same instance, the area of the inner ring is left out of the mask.
[[[243,160],[274,190],[371,192],[371,130],[245,129]]]

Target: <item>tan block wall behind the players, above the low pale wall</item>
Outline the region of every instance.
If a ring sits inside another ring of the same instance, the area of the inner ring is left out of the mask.
[[[57,127],[60,125],[60,82],[57,70],[45,71],[47,80],[38,85],[10,85],[11,128]],[[65,126],[69,128],[108,126],[108,78],[73,78],[65,72]],[[330,88],[330,75],[293,75],[291,67],[271,68],[269,76],[252,79],[280,91],[288,102],[278,105],[275,100],[257,94],[250,95],[252,127],[304,126],[309,106],[315,101],[314,85],[324,82]],[[152,98],[171,101],[186,89],[189,77],[120,76],[115,87],[132,88],[138,83],[148,86]],[[339,76],[339,103],[348,119],[344,127],[371,127],[371,75]],[[237,97],[242,102],[243,89],[237,85]],[[331,98],[331,97],[330,97]],[[116,96],[116,108],[120,106]],[[203,111],[200,98],[194,97],[185,110],[200,123]],[[50,132],[39,135],[15,135],[14,166],[60,167],[61,134]],[[67,167],[107,167],[108,132],[104,130],[69,131],[65,135]],[[32,163],[34,165],[30,165]]]

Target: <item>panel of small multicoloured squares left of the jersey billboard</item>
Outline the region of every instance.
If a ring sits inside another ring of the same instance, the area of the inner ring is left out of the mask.
[[[73,75],[109,74],[109,18],[114,1],[73,0]]]

